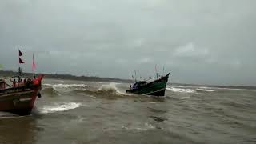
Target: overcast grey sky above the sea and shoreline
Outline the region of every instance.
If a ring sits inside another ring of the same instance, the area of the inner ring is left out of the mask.
[[[256,86],[255,0],[0,0],[0,64],[16,70]]]

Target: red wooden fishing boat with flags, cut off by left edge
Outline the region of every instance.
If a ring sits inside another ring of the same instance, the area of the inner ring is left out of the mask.
[[[19,55],[22,55],[21,52]],[[19,62],[24,63],[21,58]],[[41,97],[42,78],[43,75],[39,75],[38,78],[34,76],[22,80],[22,69],[19,67],[17,76],[0,79],[0,111],[29,115],[36,98]]]

